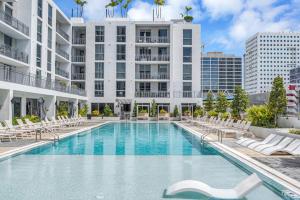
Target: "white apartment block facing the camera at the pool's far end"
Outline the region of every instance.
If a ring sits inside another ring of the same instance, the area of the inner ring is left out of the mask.
[[[87,91],[91,111],[107,104],[120,114],[153,99],[167,111],[202,104],[199,25],[73,18],[72,27],[72,84]]]

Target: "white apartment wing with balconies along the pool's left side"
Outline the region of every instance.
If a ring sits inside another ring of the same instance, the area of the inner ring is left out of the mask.
[[[0,0],[0,121],[87,101],[71,87],[71,21],[52,0]]]

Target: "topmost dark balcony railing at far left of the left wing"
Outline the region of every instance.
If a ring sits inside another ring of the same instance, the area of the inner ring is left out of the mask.
[[[6,23],[7,25],[10,25],[14,29],[29,36],[29,27],[25,25],[23,22],[16,19],[15,17],[5,13],[4,10],[0,10],[0,20]]]

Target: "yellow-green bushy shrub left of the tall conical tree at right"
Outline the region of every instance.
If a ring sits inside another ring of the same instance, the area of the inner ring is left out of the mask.
[[[252,106],[247,109],[247,119],[253,126],[275,127],[274,118],[266,105]]]

